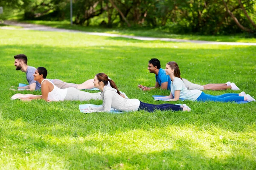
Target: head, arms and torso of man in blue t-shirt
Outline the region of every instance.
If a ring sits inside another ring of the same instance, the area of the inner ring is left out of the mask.
[[[148,61],[148,71],[149,73],[154,73],[156,75],[156,84],[155,87],[146,87],[143,85],[138,85],[139,88],[142,88],[143,91],[151,90],[152,88],[162,88],[170,90],[171,79],[163,68],[161,68],[160,61],[156,58],[152,58]]]

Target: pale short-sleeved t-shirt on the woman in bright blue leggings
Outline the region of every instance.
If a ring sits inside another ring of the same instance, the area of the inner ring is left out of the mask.
[[[174,80],[171,82],[171,93],[174,96],[175,91],[180,91],[180,99],[181,100],[193,100],[195,101],[202,93],[200,90],[188,90],[184,84],[184,82],[175,77]]]

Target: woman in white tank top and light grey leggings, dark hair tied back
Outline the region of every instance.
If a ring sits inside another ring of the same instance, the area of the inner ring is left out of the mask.
[[[40,96],[28,96],[22,97],[20,94],[17,94],[16,98],[21,100],[32,100],[32,99],[44,99],[45,101],[64,101],[64,100],[90,100],[90,99],[102,99],[100,92],[99,93],[88,93],[85,91],[79,91],[76,88],[65,88],[60,89],[56,87],[51,81],[46,79],[47,70],[44,67],[38,67],[33,74],[34,80],[38,81],[41,84],[42,95]],[[19,97],[18,97],[19,96]],[[13,96],[15,98],[15,95]],[[13,98],[13,99],[14,99]]]

